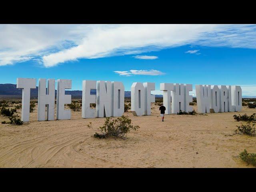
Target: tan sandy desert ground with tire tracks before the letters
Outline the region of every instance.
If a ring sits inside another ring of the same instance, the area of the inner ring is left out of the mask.
[[[154,106],[151,116],[133,116],[138,131],[127,139],[97,139],[94,128],[105,118],[83,119],[73,112],[71,120],[37,121],[37,110],[22,126],[0,124],[0,167],[141,167],[141,168],[242,168],[238,157],[246,148],[256,153],[256,137],[235,135],[234,114],[252,114],[256,109],[208,115],[166,115],[162,122]],[[193,106],[196,109],[196,106]],[[37,107],[36,107],[37,109]],[[20,110],[18,110],[20,112]],[[19,114],[20,115],[20,114]],[[0,117],[0,122],[8,118]]]

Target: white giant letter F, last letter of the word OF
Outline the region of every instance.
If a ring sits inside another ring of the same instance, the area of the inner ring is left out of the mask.
[[[154,103],[156,101],[156,96],[151,95],[151,90],[155,90],[155,83],[143,83],[144,90],[145,90],[145,99],[144,99],[144,115],[150,115],[151,114],[151,103]]]

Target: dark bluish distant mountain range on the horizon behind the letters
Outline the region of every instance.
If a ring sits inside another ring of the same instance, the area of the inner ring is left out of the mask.
[[[82,98],[82,91],[74,90],[74,91],[65,91],[65,94],[71,95],[72,98]],[[96,95],[96,89],[91,90],[91,94]],[[22,89],[17,89],[16,84],[0,84],[0,98],[1,95],[4,96],[15,96],[15,98],[22,97]],[[57,90],[55,90],[55,96],[57,95]],[[35,89],[30,90],[30,97],[37,98],[38,97],[38,86]],[[124,97],[131,97],[130,91],[124,92]],[[162,95],[156,95],[156,98],[162,98]]]

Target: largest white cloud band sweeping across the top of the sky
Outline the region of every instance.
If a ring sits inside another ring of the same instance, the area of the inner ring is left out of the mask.
[[[52,67],[79,58],[141,54],[186,44],[255,49],[256,25],[1,24],[0,65],[36,57]]]

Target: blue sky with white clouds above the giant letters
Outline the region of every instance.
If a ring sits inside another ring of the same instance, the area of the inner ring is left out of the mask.
[[[65,32],[63,32],[63,30]],[[240,85],[256,96],[255,25],[0,25],[0,83],[17,77]],[[162,94],[161,91],[152,92]],[[195,93],[195,90],[192,92]]]

